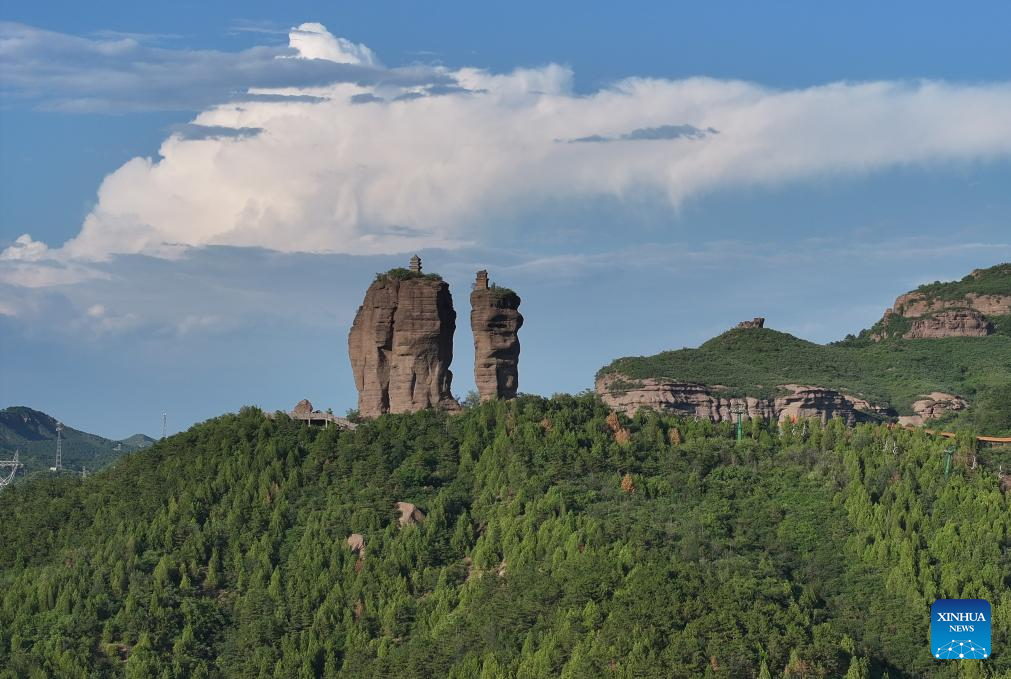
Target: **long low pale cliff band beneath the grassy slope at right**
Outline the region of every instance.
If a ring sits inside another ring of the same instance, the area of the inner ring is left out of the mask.
[[[657,379],[632,379],[620,373],[598,378],[596,393],[611,408],[634,415],[639,408],[663,410],[702,417],[715,422],[733,420],[742,409],[747,419],[778,421],[817,417],[828,421],[841,417],[848,424],[868,421],[885,414],[885,409],[863,399],[832,389],[785,384],[788,393],[775,398],[721,396],[715,387]]]

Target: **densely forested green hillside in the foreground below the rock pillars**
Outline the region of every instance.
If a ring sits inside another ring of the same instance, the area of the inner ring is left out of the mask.
[[[248,408],[0,494],[0,677],[1008,676],[1011,455],[945,478],[948,445],[590,395]],[[931,658],[942,597],[994,604],[992,658]]]

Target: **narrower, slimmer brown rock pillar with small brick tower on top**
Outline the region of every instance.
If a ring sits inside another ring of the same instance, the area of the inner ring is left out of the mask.
[[[474,383],[482,401],[514,398],[520,386],[520,296],[488,287],[488,272],[477,272],[470,293],[470,328],[474,333]]]

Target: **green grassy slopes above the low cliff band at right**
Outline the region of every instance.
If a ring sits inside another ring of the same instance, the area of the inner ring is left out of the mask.
[[[943,298],[969,292],[1011,294],[1011,265],[994,267],[977,278],[921,286],[919,291]],[[920,394],[944,391],[973,399],[1011,383],[1011,317],[991,320],[997,333],[989,337],[874,343],[864,332],[827,346],[767,328],[732,329],[699,349],[618,359],[601,373],[720,384],[729,387],[728,395],[770,396],[777,385],[814,384],[911,414]]]

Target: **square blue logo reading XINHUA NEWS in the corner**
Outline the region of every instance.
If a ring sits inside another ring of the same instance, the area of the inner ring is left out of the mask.
[[[930,655],[940,660],[983,660],[991,651],[989,601],[934,601],[930,606]]]

